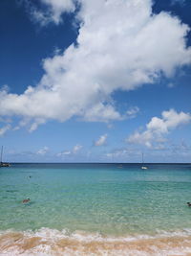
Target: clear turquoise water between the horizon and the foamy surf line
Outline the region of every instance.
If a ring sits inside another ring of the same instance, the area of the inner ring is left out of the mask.
[[[155,234],[191,228],[191,165],[12,164],[0,168],[0,229]],[[30,177],[31,176],[31,177]],[[22,204],[24,198],[31,203]]]

